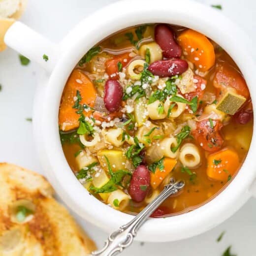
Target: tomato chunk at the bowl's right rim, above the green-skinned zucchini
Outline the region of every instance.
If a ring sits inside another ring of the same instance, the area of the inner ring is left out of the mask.
[[[216,65],[213,85],[217,88],[217,97],[223,95],[228,90],[228,87],[235,89],[237,94],[244,96],[246,99],[250,96],[245,79],[241,73],[226,63],[218,63]]]

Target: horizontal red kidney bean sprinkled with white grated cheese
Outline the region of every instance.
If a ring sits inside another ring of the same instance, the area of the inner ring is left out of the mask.
[[[149,65],[149,71],[160,77],[182,74],[189,67],[189,64],[181,59],[170,59],[156,61]]]

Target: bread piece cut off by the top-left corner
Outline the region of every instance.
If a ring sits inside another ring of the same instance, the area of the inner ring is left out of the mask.
[[[9,27],[21,17],[27,0],[0,0],[0,51],[6,48],[4,35]]]

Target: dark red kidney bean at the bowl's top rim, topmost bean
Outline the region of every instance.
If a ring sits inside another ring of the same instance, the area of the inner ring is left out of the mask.
[[[180,58],[181,47],[174,39],[174,33],[169,26],[160,24],[155,29],[155,40],[162,49],[162,55],[165,58]]]

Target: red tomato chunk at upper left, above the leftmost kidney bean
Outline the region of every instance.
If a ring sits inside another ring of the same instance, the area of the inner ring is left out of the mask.
[[[131,59],[130,53],[124,53],[117,55],[105,62],[106,73],[111,79],[119,79],[118,75],[118,63],[122,63],[123,67],[126,67]]]

